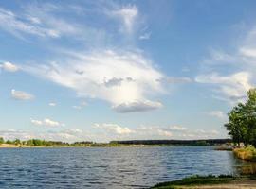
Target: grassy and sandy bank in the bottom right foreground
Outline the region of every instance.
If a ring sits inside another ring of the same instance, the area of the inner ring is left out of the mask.
[[[183,180],[174,180],[158,183],[152,189],[171,189],[171,188],[256,188],[256,180],[251,177],[233,177],[220,175],[216,176],[192,176]]]

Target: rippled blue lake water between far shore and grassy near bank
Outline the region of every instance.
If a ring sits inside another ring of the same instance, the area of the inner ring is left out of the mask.
[[[2,148],[0,188],[145,188],[241,164],[209,146]]]

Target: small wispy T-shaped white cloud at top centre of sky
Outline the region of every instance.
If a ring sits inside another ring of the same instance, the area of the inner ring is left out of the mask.
[[[123,25],[121,27],[121,31],[125,31],[127,33],[132,33],[134,31],[135,22],[138,15],[138,10],[135,5],[114,10],[111,12],[111,15],[121,20]]]

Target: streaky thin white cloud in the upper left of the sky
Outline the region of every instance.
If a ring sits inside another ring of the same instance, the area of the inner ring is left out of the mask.
[[[66,19],[66,9],[50,3],[32,3],[20,12],[0,8],[0,28],[21,39],[28,35],[51,39],[68,36],[73,40],[91,41],[105,35],[104,30],[72,22],[70,17]]]

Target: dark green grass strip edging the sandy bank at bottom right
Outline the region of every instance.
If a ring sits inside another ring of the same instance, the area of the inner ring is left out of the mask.
[[[183,180],[174,180],[174,181],[158,183],[155,186],[153,186],[152,189],[171,189],[171,188],[178,188],[179,186],[227,183],[231,180],[236,180],[236,178],[230,175],[220,175],[220,176],[195,175],[189,178],[185,178]]]

